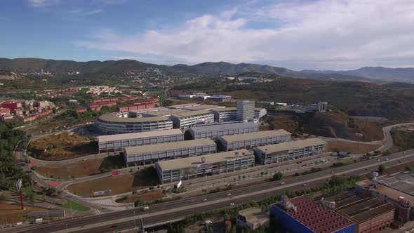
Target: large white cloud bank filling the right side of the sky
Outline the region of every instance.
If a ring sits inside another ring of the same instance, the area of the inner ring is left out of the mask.
[[[387,60],[389,66],[406,66],[401,58],[414,58],[414,1],[286,1],[260,8],[249,4],[201,15],[168,32],[121,34],[107,29],[77,44],[190,64],[224,60],[348,69],[384,65]]]

